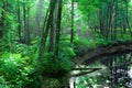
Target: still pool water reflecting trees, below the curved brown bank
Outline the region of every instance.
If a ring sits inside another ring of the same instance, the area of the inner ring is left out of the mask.
[[[132,88],[132,53],[103,57],[92,66],[106,69],[77,77],[76,88]]]

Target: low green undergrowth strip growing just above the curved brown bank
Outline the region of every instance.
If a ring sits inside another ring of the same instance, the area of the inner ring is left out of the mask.
[[[74,51],[77,55],[82,56],[88,51],[107,47],[111,45],[121,45],[132,43],[130,35],[124,35],[123,38],[118,37],[116,41],[105,40],[103,37],[86,38],[82,36],[76,36],[74,40]]]

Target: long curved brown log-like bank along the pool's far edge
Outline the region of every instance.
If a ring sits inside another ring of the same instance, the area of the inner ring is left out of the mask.
[[[79,65],[88,65],[92,64],[97,59],[101,59],[102,56],[120,55],[130,52],[132,52],[132,43],[112,45],[108,47],[98,47],[94,51],[87,52],[82,57],[75,57],[74,62]]]

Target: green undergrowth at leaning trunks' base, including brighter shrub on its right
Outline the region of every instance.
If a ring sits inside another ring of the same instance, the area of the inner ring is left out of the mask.
[[[54,58],[53,53],[45,53],[42,70],[46,77],[61,78],[70,72],[70,61],[76,54],[69,41],[63,41],[61,45],[58,58]]]

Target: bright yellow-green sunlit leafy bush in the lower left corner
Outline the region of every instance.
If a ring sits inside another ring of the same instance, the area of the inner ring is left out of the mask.
[[[0,75],[10,85],[24,87],[31,81],[28,75],[33,68],[29,65],[30,58],[28,56],[22,57],[21,54],[4,53],[0,58]]]

